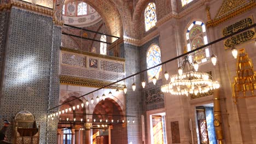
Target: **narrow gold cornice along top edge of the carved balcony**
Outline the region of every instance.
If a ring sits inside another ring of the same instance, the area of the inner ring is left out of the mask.
[[[86,55],[86,56],[93,56],[93,57],[106,58],[106,59],[111,59],[111,60],[115,60],[115,61],[125,62],[124,58],[106,56],[106,55],[101,55],[101,54],[91,53],[91,52],[85,52],[85,51],[79,51],[79,50],[73,50],[73,49],[68,49],[67,47],[61,47],[61,51],[68,51],[68,52],[73,52],[73,53],[79,53],[79,54]]]

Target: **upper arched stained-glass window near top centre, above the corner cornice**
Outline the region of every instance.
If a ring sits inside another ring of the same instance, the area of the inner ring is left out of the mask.
[[[145,27],[146,31],[154,27],[156,23],[155,3],[151,2],[145,9]]]

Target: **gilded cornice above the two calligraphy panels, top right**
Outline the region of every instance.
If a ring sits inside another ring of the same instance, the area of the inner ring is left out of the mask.
[[[240,15],[242,13],[245,13],[246,11],[249,11],[253,8],[255,8],[256,3],[254,1],[247,3],[246,5],[244,5],[241,8],[238,8],[236,11],[230,11],[230,13],[227,13],[221,17],[218,17],[214,20],[211,20],[209,22],[206,23],[207,27],[215,27],[218,26],[220,23],[223,23],[225,21],[228,21],[230,19],[232,19],[233,17]]]

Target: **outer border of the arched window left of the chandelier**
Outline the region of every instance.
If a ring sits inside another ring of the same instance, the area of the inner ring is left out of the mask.
[[[153,48],[153,46],[156,46],[156,47],[158,47],[158,49],[159,49],[159,62],[158,62],[158,63],[155,63],[155,64],[152,64],[152,65],[149,65],[149,64],[148,64],[148,63],[149,63],[148,53],[149,53],[150,49]],[[154,67],[155,65],[158,65],[158,64],[160,64],[160,63],[162,63],[162,55],[161,55],[160,46],[159,46],[158,44],[153,43],[153,44],[151,44],[151,45],[148,47],[147,53],[146,53],[146,66],[147,66],[147,69],[150,68],[150,67]],[[158,70],[158,71],[156,72],[156,74],[154,74],[154,75],[150,75],[150,74],[149,74],[150,71],[153,71],[153,73],[154,73],[154,70],[155,70],[155,69],[159,69],[159,68],[160,68],[160,70]],[[156,79],[158,79],[158,80],[162,78],[162,65],[160,65],[159,67],[156,67],[156,68],[147,70],[147,80],[148,80],[148,82],[152,82],[152,78],[153,78],[154,76],[155,76]]]

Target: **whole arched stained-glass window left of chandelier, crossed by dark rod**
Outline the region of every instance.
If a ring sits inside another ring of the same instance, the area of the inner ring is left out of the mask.
[[[160,63],[162,63],[160,47],[156,44],[152,44],[147,52],[147,68],[154,67]],[[156,79],[159,79],[161,71],[162,66],[148,70],[148,80],[151,81],[154,76]]]

